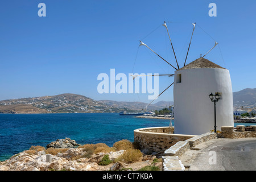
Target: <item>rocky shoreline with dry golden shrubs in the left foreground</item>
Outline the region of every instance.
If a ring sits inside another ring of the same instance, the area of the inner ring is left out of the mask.
[[[104,143],[81,145],[70,138],[58,139],[47,144],[47,148],[31,146],[0,162],[0,171],[137,171],[148,167],[162,170],[162,159],[131,147],[129,140],[116,143],[109,147]]]

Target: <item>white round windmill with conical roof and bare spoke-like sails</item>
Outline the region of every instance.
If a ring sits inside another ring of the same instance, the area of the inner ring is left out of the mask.
[[[192,25],[193,31],[188,46],[187,56],[185,57],[182,68],[180,68],[179,64],[177,63],[174,47],[172,46],[171,37],[166,22],[164,22],[163,26],[166,27],[177,67],[174,67],[174,65],[168,63],[168,61],[163,59],[163,57],[158,55],[158,53],[153,51],[141,41],[140,46],[146,46],[148,49],[154,52],[155,55],[160,57],[160,59],[164,60],[175,69],[174,74],[168,75],[174,76],[174,82],[172,82],[168,88],[174,85],[175,133],[200,135],[210,132],[210,130],[213,129],[214,112],[212,101],[210,101],[208,97],[210,93],[221,94],[221,98],[216,107],[217,130],[220,130],[221,126],[234,125],[233,93],[228,69],[222,68],[219,65],[204,59],[204,57],[217,46],[217,42],[214,43],[214,47],[212,47],[203,57],[200,56],[199,59],[196,59],[195,61],[192,61],[186,65],[196,23],[192,23]],[[135,75],[132,76],[135,77]],[[164,93],[168,88],[166,88],[162,93]],[[160,93],[159,96],[162,93]],[[147,109],[147,106],[155,100],[152,100],[149,104],[147,104],[144,109]]]

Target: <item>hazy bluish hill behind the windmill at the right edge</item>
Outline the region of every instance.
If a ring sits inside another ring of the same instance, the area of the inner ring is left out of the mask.
[[[238,92],[233,92],[233,102],[234,105],[256,106],[256,88],[247,88]]]

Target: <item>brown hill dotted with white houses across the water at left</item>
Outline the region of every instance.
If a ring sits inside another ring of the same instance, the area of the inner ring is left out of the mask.
[[[0,113],[111,113],[118,109],[78,94],[0,101]]]

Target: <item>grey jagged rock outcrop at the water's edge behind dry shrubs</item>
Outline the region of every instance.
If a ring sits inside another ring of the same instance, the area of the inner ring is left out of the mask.
[[[75,148],[76,146],[80,146],[80,144],[77,144],[75,140],[65,138],[57,139],[56,141],[47,144],[46,148]]]

